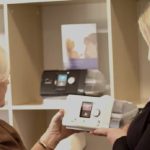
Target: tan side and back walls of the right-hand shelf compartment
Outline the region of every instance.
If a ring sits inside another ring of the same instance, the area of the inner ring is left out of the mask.
[[[138,26],[140,14],[148,6],[148,2],[148,0],[111,1],[114,93],[117,99],[135,103],[145,103],[149,99],[148,46]]]

